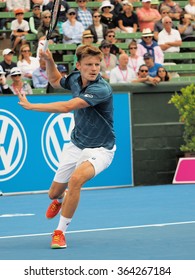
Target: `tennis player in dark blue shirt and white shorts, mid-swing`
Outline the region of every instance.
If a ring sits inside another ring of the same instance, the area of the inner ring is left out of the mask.
[[[100,75],[102,53],[97,47],[85,45],[78,47],[76,55],[78,71],[62,78],[51,52],[47,50],[40,54],[46,60],[50,84],[54,88],[71,90],[71,100],[37,104],[19,94],[19,104],[27,110],[51,113],[74,110],[71,141],[63,151],[49,190],[53,201],[46,217],[55,217],[61,209],[59,224],[52,235],[53,249],[67,247],[65,232],[77,209],[81,187],[111,164],[116,150],[112,89]]]

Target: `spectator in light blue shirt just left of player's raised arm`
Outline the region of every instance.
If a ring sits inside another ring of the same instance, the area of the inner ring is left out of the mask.
[[[46,62],[44,59],[39,60],[40,66],[33,71],[32,81],[34,88],[47,88],[48,78],[46,72]]]

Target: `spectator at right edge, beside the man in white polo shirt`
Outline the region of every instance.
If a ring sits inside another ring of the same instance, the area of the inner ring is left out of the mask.
[[[181,14],[177,29],[181,35],[182,41],[185,39],[189,39],[189,37],[194,38],[194,34],[193,34],[194,28],[195,26],[192,25],[191,19],[185,17],[185,14]]]

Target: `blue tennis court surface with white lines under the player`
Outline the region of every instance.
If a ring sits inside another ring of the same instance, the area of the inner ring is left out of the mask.
[[[1,260],[194,260],[195,185],[82,191],[66,234],[50,249],[58,218],[46,194],[0,197]]]

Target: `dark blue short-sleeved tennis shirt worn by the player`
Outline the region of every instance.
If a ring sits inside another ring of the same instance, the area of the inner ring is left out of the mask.
[[[104,147],[111,150],[115,145],[111,86],[98,74],[95,81],[82,88],[79,71],[62,78],[60,85],[71,90],[73,98],[82,98],[90,105],[74,111],[71,141],[80,149]]]

